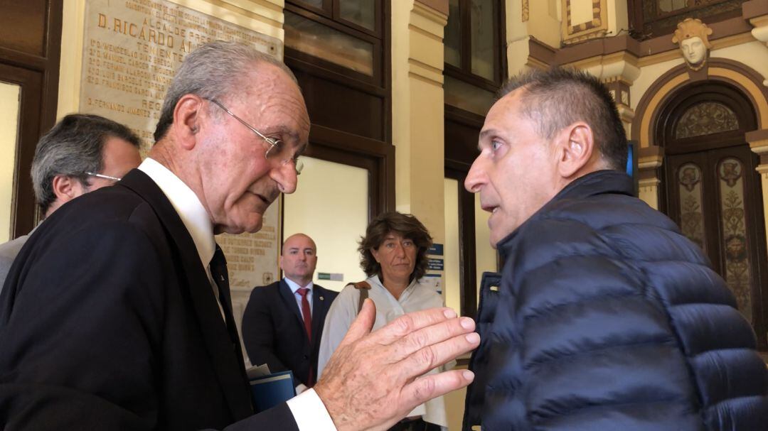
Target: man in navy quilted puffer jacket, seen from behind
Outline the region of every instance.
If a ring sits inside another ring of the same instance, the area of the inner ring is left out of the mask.
[[[611,95],[562,69],[503,94],[465,182],[505,258],[465,429],[768,429],[753,331],[697,245],[632,196]]]

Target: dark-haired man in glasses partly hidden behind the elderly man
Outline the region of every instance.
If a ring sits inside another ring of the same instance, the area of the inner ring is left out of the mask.
[[[48,217],[71,199],[111,186],[139,166],[139,143],[130,129],[98,115],[62,118],[40,138],[32,160],[32,187],[41,214]],[[0,290],[28,238],[0,244]]]

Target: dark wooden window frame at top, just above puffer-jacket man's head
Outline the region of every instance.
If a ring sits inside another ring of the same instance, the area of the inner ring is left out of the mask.
[[[485,77],[472,74],[472,14],[469,12],[471,0],[458,0],[458,10],[461,19],[462,45],[459,47],[459,58],[462,66],[455,67],[452,64],[444,64],[444,73],[446,76],[454,77],[461,81],[472,84],[488,91],[496,92],[505,81],[505,71],[507,70],[507,51],[506,51],[506,28],[505,28],[505,2],[494,0],[496,13],[494,14],[493,49],[498,54],[494,64],[494,80],[488,80]],[[451,17],[449,17],[451,19]]]

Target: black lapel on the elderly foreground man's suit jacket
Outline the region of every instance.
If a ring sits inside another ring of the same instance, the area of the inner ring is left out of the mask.
[[[180,281],[187,282],[190,301],[200,323],[200,333],[216,370],[223,396],[234,418],[250,416],[253,414],[253,406],[243,367],[240,341],[231,339],[227,324],[221,318],[213,288],[190,233],[174,207],[170,205],[170,201],[147,174],[134,169],[118,184],[143,197],[161,220],[170,244],[176,248],[177,253],[173,256],[176,265],[174,269]],[[224,307],[227,321],[234,322],[231,303],[226,301],[226,298],[225,303],[228,305]]]

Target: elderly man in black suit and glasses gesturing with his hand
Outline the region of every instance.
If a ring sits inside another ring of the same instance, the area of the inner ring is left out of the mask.
[[[470,383],[466,370],[416,377],[478,345],[471,319],[435,308],[371,332],[368,301],[312,390],[253,415],[214,234],[260,229],[296,189],[309,129],[282,62],[228,42],[187,55],[147,160],[22,250],[0,296],[2,425],[386,429]]]

